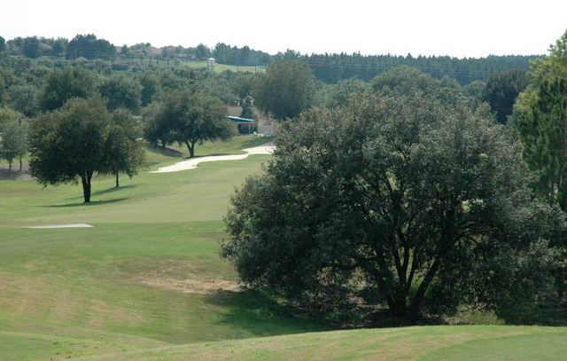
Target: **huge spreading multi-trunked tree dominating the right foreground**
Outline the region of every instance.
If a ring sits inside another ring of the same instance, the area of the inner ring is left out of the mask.
[[[231,199],[222,255],[246,284],[321,307],[361,297],[415,316],[493,305],[511,285],[527,297],[540,276],[524,278],[526,257],[563,226],[532,200],[521,146],[464,106],[358,98],[287,124],[276,146]]]

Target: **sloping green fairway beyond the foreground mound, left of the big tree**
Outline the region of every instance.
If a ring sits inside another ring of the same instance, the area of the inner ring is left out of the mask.
[[[234,146],[250,141],[238,138]],[[230,146],[214,153],[230,152]],[[163,157],[151,155],[153,161]],[[167,287],[184,279],[213,285],[235,279],[218,255],[221,216],[233,187],[266,159],[251,156],[184,172],[123,177],[119,190],[112,177],[100,178],[90,205],[82,204],[78,186],[43,189],[34,181],[0,181],[0,337],[12,340],[0,341],[0,356],[34,345],[45,357],[81,356],[162,342],[322,329],[286,316],[256,294],[181,293]],[[21,228],[74,223],[95,227]],[[147,279],[158,286],[146,286]],[[43,348],[45,338],[53,347]]]

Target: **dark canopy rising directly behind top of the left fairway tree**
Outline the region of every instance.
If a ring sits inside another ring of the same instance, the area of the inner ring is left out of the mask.
[[[55,69],[47,76],[40,95],[43,110],[54,110],[70,98],[89,98],[95,94],[95,77],[81,68]]]

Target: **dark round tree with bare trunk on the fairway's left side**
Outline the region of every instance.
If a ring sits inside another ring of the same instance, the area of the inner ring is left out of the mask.
[[[38,118],[30,134],[30,169],[43,185],[76,184],[90,201],[91,179],[108,164],[105,145],[112,127],[99,99],[74,98],[61,109]]]

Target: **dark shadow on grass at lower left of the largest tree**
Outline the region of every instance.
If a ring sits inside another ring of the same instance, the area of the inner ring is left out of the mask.
[[[332,329],[290,306],[273,301],[255,290],[218,290],[206,295],[206,302],[228,309],[218,321],[245,329],[255,336],[301,334]]]

